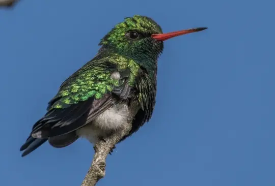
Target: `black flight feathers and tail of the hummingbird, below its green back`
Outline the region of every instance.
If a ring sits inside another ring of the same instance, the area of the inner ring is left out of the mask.
[[[73,143],[78,138],[75,136],[75,130],[87,125],[118,102],[119,99],[107,94],[100,100],[90,98],[65,109],[50,110],[33,126],[31,135],[20,148],[20,151],[25,150],[22,156],[31,153],[48,139],[54,147]]]

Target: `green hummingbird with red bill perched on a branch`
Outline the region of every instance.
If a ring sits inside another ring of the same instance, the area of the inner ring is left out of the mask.
[[[46,114],[34,124],[21,146],[21,156],[46,141],[56,148],[78,138],[92,144],[104,141],[119,133],[130,115],[131,131],[120,141],[131,136],[152,116],[163,41],[204,29],[207,27],[163,34],[149,17],[126,17],[100,40],[95,57],[61,84]]]

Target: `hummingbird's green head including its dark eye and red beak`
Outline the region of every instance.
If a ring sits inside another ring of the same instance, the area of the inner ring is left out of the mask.
[[[136,63],[156,61],[163,50],[163,41],[183,34],[199,32],[206,28],[193,28],[162,34],[161,27],[151,18],[134,15],[118,23],[101,39],[99,45],[132,58]]]

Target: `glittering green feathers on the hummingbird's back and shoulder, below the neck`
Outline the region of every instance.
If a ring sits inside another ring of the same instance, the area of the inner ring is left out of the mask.
[[[108,63],[105,63],[108,61]],[[130,69],[129,85],[133,86],[135,76],[140,66],[125,56],[116,53],[100,59],[91,60],[84,67],[75,72],[62,85],[58,94],[52,99],[50,109],[62,109],[86,101],[90,97],[101,99],[104,94],[113,91],[119,85],[119,80],[111,77],[116,70]]]

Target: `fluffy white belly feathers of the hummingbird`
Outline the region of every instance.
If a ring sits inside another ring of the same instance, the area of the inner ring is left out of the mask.
[[[100,114],[91,123],[76,131],[79,137],[88,139],[91,143],[98,142],[98,137],[107,137],[113,131],[119,130],[128,120],[127,104],[115,105]]]

